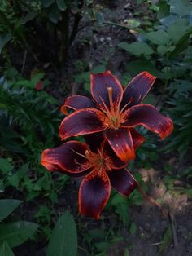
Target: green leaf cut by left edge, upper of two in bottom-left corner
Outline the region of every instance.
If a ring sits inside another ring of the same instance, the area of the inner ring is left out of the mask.
[[[0,221],[6,218],[22,201],[16,199],[1,199],[0,200]]]

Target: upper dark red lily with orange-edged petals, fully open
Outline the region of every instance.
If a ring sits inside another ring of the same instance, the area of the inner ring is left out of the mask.
[[[104,131],[104,137],[122,161],[135,157],[131,128],[145,126],[161,139],[171,134],[172,120],[150,104],[141,104],[155,77],[142,72],[125,89],[110,71],[91,75],[91,94],[94,99],[73,95],[66,99],[61,110],[75,110],[65,117],[59,127],[62,139]],[[136,133],[136,130],[134,130]],[[142,141],[145,139],[140,135]]]

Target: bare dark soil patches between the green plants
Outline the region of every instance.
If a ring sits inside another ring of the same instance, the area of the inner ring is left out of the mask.
[[[98,7],[99,4],[103,5],[103,1],[97,2]],[[118,1],[118,5],[116,1],[113,1],[112,4],[108,1],[104,5],[111,8],[111,11],[116,12],[118,21],[121,23],[133,17],[134,11],[137,9],[142,10],[142,15],[147,11],[149,15],[150,12],[147,5],[140,4],[137,6],[137,1],[135,0]],[[150,12],[150,15],[154,14]],[[85,20],[82,20],[80,25],[83,25],[84,22]],[[88,38],[88,42],[85,42],[86,38]],[[59,100],[59,104],[62,104],[64,98],[67,96],[66,90],[63,91],[63,81],[65,81],[65,85],[68,85],[68,94],[75,94],[76,92],[84,94],[82,87],[72,83],[72,80],[69,78],[76,73],[76,67],[74,65],[76,60],[86,60],[89,66],[102,64],[103,60],[106,60],[107,68],[116,77],[120,78],[120,74],[124,70],[124,64],[129,63],[131,56],[127,53],[125,54],[124,51],[121,51],[116,46],[119,42],[133,42],[133,40],[134,35],[129,32],[129,29],[122,29],[116,26],[107,25],[101,29],[97,29],[95,26],[92,29],[87,27],[82,29],[77,35],[76,41],[72,44],[68,66],[58,72],[55,72],[51,68],[46,70],[53,85],[47,91],[50,91]],[[116,51],[112,51],[113,49],[116,49]],[[60,93],[60,91],[63,91],[63,93]],[[122,229],[120,232],[124,236],[124,241],[113,245],[107,255],[123,256],[125,255],[124,250],[126,248],[129,248],[129,254],[131,256],[159,255],[159,245],[162,243],[164,232],[168,228],[168,225],[171,225],[175,237],[172,239],[170,245],[168,245],[168,249],[160,255],[192,255],[192,204],[190,198],[185,194],[168,191],[168,188],[164,184],[164,176],[161,174],[160,167],[156,166],[155,168],[154,170],[142,169],[138,171],[142,174],[143,179],[146,180],[149,188],[147,193],[154,199],[160,199],[164,202],[163,209],[159,209],[157,205],[146,199],[143,201],[142,206],[131,207],[129,214],[131,221],[137,224],[137,231],[134,235],[130,236],[126,228]],[[177,168],[180,167],[177,166]],[[79,180],[70,179],[63,193],[59,195],[59,205],[57,205],[58,213],[63,212],[65,207],[66,209],[70,207],[74,212],[74,216],[77,214],[78,187]],[[33,214],[37,210],[37,206],[41,203],[41,201],[37,201],[36,204],[26,203],[22,209],[23,213],[20,213],[21,217],[26,220],[33,220]],[[170,218],[170,214],[172,218]],[[85,218],[83,220],[85,221]],[[101,221],[96,222],[91,220],[91,223],[94,227],[102,228]],[[36,242],[28,241],[13,250],[16,256],[44,256],[46,255],[46,245],[47,241],[41,241],[38,245]]]

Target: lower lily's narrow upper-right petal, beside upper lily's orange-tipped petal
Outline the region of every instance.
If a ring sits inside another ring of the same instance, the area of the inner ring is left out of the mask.
[[[103,156],[108,160],[107,162],[111,169],[120,169],[128,165],[128,162],[121,161],[120,158],[117,157],[107,140],[103,142],[102,148]]]

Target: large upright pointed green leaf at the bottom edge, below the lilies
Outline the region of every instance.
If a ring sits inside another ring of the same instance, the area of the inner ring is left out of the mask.
[[[66,211],[55,224],[47,256],[76,256],[77,235],[76,224],[72,215]]]

